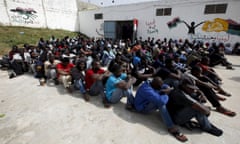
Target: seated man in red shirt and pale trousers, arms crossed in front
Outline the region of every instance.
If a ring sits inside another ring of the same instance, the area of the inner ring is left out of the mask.
[[[63,83],[63,86],[67,89],[68,92],[72,92],[70,86],[72,84],[72,76],[70,74],[71,69],[74,67],[74,64],[69,62],[69,58],[65,57],[62,59],[61,63],[57,64],[57,77],[59,82]]]

